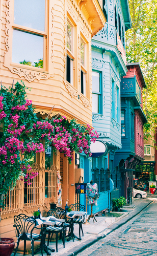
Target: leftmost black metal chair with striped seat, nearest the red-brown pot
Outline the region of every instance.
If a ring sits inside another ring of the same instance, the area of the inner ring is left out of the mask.
[[[26,241],[31,241],[32,256],[34,256],[34,241],[37,241],[39,239],[41,240],[40,246],[41,246],[41,254],[43,256],[42,249],[43,249],[44,229],[43,227],[38,228],[36,227],[36,225],[37,225],[36,220],[25,214],[19,214],[17,216],[14,216],[14,227],[16,228],[16,237],[17,237],[17,246],[14,252],[14,256],[16,255],[20,240],[24,240],[23,255],[25,255]],[[34,233],[33,232],[34,229],[37,229],[40,232]]]

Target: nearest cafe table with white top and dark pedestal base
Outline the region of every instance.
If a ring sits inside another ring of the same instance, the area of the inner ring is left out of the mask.
[[[65,220],[62,220],[62,219],[57,219],[55,218],[54,216],[49,216],[49,217],[42,217],[40,215],[40,219],[36,219],[36,222],[37,222],[37,226],[38,225],[41,225],[43,224],[43,228],[44,228],[44,238],[43,238],[43,250],[47,253],[47,256],[50,256],[50,252],[54,252],[55,249],[50,249],[47,245],[46,245],[46,225],[51,225],[51,226],[54,226],[54,225],[59,225],[60,223],[63,223],[65,222]],[[41,250],[41,246],[35,251],[35,253],[39,252]]]

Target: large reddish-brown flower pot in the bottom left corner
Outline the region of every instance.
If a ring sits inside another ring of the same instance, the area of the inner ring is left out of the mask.
[[[0,240],[0,256],[10,256],[15,246],[14,239],[1,238]]]

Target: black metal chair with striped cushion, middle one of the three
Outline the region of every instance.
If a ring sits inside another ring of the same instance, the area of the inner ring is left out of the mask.
[[[66,210],[62,209],[61,207],[56,207],[55,209],[50,209],[47,212],[47,217],[48,216],[54,216],[57,219],[63,219],[67,221],[66,218]],[[49,239],[51,242],[51,238],[53,237],[53,234],[56,234],[56,251],[58,252],[58,233],[60,233],[60,238],[62,238],[63,246],[65,248],[65,232],[66,228],[70,227],[69,223],[63,222],[60,226],[55,225],[53,226],[48,226],[46,227],[46,232],[48,233],[48,241],[47,241],[47,246],[49,244]],[[50,237],[51,234],[51,237]]]

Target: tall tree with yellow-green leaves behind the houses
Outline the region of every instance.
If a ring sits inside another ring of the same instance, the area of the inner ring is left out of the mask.
[[[140,62],[146,81],[143,107],[148,119],[145,130],[154,130],[157,124],[157,1],[129,1],[132,29],[126,32],[126,58]]]

